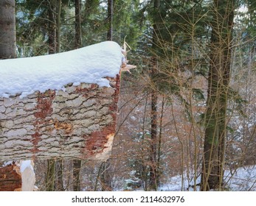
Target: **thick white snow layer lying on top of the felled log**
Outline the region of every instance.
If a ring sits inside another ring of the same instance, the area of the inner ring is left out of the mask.
[[[69,83],[109,86],[104,77],[115,77],[123,61],[121,47],[112,41],[59,54],[0,60],[0,97],[21,93],[22,98],[37,90],[60,90]]]

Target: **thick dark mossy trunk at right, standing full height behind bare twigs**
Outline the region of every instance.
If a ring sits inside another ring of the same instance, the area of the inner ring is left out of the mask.
[[[226,107],[234,18],[233,0],[215,0],[212,13],[213,23],[201,191],[221,190],[223,181]]]

